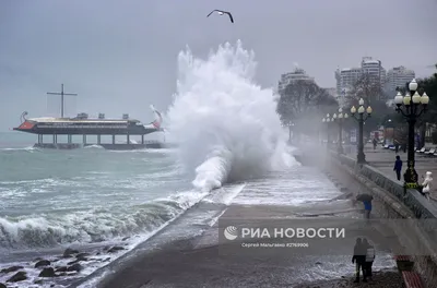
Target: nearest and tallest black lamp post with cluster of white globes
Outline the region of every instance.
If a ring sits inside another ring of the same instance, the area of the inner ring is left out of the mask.
[[[417,187],[417,172],[414,169],[414,127],[417,118],[423,112],[426,112],[429,103],[429,97],[425,92],[422,94],[422,96],[417,93],[417,82],[413,79],[413,81],[409,84],[410,93],[406,93],[405,96],[402,96],[402,94],[398,92],[397,96],[394,97],[394,104],[397,105],[395,110],[398,113],[402,113],[409,123],[408,168],[403,175],[405,187],[408,188]]]

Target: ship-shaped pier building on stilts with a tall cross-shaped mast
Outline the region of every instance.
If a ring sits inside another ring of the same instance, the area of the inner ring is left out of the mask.
[[[144,135],[154,132],[164,132],[161,128],[162,116],[151,106],[155,115],[155,120],[149,124],[143,124],[139,120],[131,119],[128,113],[122,115],[121,119],[106,119],[104,113],[98,113],[98,118],[88,118],[87,113],[78,113],[74,118],[63,117],[63,97],[76,96],[63,92],[63,84],[60,93],[47,93],[48,95],[61,96],[60,118],[43,117],[27,119],[27,111],[21,115],[21,124],[14,128],[15,131],[37,134],[37,148],[73,149],[92,145],[99,145],[106,149],[143,149],[162,148],[165,144],[157,141],[145,141]],[[45,141],[49,136],[49,141]],[[122,137],[121,143],[117,137]],[[138,140],[138,137],[141,140]],[[61,139],[66,140],[61,140]],[[75,140],[80,137],[81,140]],[[93,140],[90,140],[93,137]],[[108,140],[104,140],[110,139]],[[137,137],[137,141],[132,141]]]

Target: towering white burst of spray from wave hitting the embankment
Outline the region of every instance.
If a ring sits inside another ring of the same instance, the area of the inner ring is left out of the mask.
[[[196,171],[196,188],[211,191],[296,164],[286,152],[273,91],[253,81],[253,51],[238,40],[202,60],[187,48],[178,67],[168,131],[182,164]]]

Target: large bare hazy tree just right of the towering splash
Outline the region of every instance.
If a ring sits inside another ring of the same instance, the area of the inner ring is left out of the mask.
[[[308,123],[321,121],[322,112],[338,103],[326,89],[314,81],[297,80],[290,83],[280,92],[276,111],[283,125],[288,127],[290,134],[294,132],[315,132],[315,125]]]

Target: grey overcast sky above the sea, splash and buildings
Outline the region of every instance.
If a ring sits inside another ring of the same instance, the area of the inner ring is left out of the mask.
[[[213,9],[232,11],[235,24],[206,19]],[[336,67],[363,56],[426,76],[437,61],[436,12],[436,0],[0,0],[0,131],[23,110],[46,115],[46,92],[61,83],[79,94],[73,112],[151,121],[150,104],[170,103],[186,45],[204,57],[241,39],[263,86],[297,62],[333,87]]]

